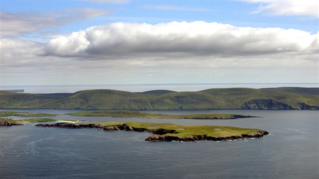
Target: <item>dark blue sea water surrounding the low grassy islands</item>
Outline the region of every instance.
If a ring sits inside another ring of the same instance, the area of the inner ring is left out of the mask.
[[[69,112],[35,111],[55,114]],[[43,128],[35,127],[34,123],[1,127],[0,178],[318,178],[319,176],[319,111],[148,112],[235,113],[263,117],[236,120],[81,117],[80,120],[229,125],[260,128],[269,131],[271,135],[255,140],[151,143],[144,142],[144,139],[150,135],[145,132]],[[56,118],[80,117],[59,115]]]

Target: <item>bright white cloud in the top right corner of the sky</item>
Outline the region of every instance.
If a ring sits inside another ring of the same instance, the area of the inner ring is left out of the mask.
[[[262,4],[253,13],[266,12],[275,16],[310,16],[319,17],[318,1],[316,0],[242,0],[249,3]]]

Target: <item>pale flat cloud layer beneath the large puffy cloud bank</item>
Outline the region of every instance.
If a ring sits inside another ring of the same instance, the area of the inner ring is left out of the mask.
[[[73,35],[75,37],[79,33]],[[67,42],[68,38],[65,40]],[[83,42],[78,40],[76,43]],[[66,47],[70,46],[65,44]],[[315,82],[318,80],[318,53],[227,58],[204,54],[172,57],[165,53],[156,54],[156,57],[153,54],[136,53],[129,58],[117,57],[117,60],[107,60],[105,55],[102,55],[100,60],[93,62],[91,60],[94,58],[93,54],[85,57],[36,56],[34,52],[43,49],[45,44],[34,41],[2,39],[0,46],[1,85]],[[61,50],[63,49],[59,49]],[[80,51],[74,50],[74,53]]]

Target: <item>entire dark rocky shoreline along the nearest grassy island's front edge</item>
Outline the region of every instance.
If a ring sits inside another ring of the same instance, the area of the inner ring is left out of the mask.
[[[145,139],[147,142],[158,142],[158,141],[177,141],[177,142],[195,142],[195,141],[233,141],[237,139],[248,139],[248,138],[262,138],[265,135],[268,135],[269,132],[265,130],[256,131],[250,133],[249,135],[237,135],[237,136],[220,136],[212,137],[208,135],[193,135],[191,137],[182,137],[178,136],[176,130],[158,128],[158,129],[149,129],[141,127],[129,126],[126,123],[114,125],[114,126],[102,126],[95,124],[70,124],[70,123],[54,123],[54,124],[37,124],[35,126],[39,127],[60,127],[60,128],[97,128],[103,129],[104,131],[139,131],[139,132],[150,132],[153,135]],[[167,135],[173,134],[173,135]]]

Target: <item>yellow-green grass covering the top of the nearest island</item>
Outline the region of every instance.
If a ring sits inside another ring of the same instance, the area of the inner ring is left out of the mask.
[[[178,133],[168,133],[169,136],[192,137],[194,135],[207,135],[211,137],[227,137],[238,135],[249,135],[250,133],[260,131],[256,128],[240,128],[230,126],[216,125],[177,125],[171,123],[147,123],[147,122],[103,122],[98,123],[104,126],[115,126],[126,123],[132,127],[148,128],[148,129],[172,129]]]

